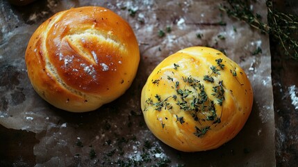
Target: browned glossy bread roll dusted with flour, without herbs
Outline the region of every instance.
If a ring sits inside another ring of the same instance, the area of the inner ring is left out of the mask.
[[[92,111],[124,94],[139,61],[131,26],[95,6],[53,15],[26,49],[33,88],[53,106],[72,112]]]

